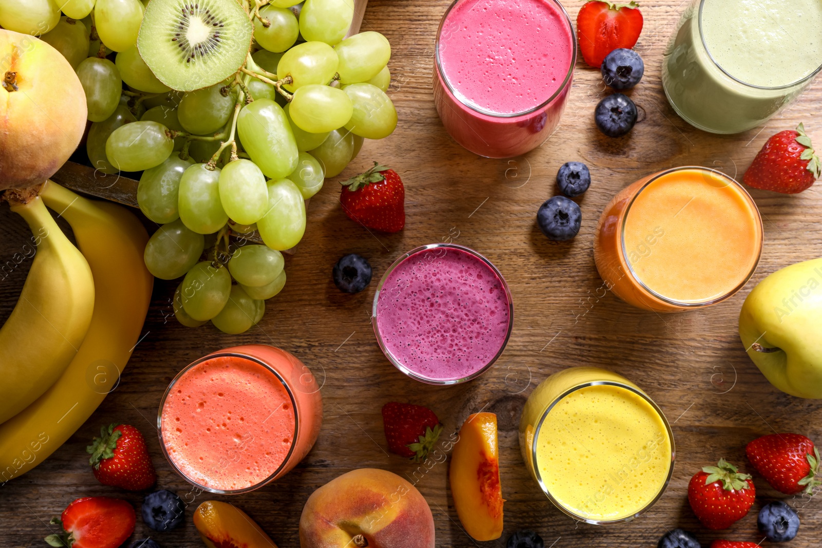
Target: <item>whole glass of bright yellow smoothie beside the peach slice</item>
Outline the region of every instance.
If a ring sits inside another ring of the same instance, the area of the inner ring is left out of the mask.
[[[673,466],[663,413],[629,380],[593,367],[571,367],[534,390],[520,444],[548,498],[588,523],[623,522],[649,509]]]

